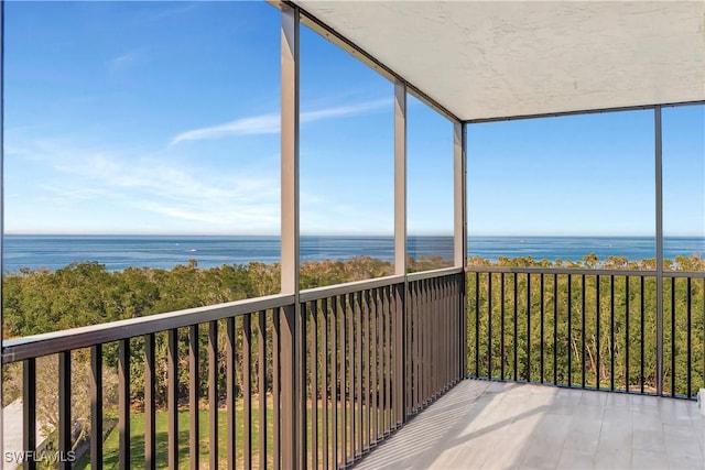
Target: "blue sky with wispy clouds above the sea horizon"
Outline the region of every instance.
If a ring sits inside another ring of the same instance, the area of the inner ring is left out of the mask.
[[[9,233],[276,234],[279,12],[8,2]],[[390,234],[393,86],[301,36],[303,233]],[[453,127],[409,98],[410,233],[451,233]],[[705,234],[705,110],[664,110],[666,234]],[[649,111],[468,127],[470,234],[652,234]]]

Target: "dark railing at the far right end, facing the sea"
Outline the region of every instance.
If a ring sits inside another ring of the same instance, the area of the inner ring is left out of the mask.
[[[705,386],[705,273],[471,266],[474,378],[695,397]],[[659,357],[658,337],[663,335]]]

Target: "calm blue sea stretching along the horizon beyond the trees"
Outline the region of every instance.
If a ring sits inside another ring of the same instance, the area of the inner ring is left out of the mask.
[[[302,261],[346,260],[370,255],[393,259],[392,237],[302,237]],[[410,237],[409,253],[453,256],[451,237]],[[582,260],[596,253],[604,259],[623,255],[629,260],[655,256],[655,241],[650,237],[470,237],[468,255],[496,260],[498,256],[533,256],[536,260]],[[705,238],[664,239],[664,256],[705,253]],[[20,267],[56,270],[73,262],[97,261],[109,270],[129,266],[172,269],[196,260],[199,267],[221,264],[279,262],[279,237],[202,237],[202,236],[6,236],[3,272]]]

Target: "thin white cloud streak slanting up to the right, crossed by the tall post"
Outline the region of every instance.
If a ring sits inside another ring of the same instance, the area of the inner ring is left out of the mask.
[[[357,105],[303,111],[299,119],[301,123],[314,122],[323,119],[344,118],[375,112],[390,106],[391,101],[389,99],[378,99]],[[279,113],[260,114],[208,128],[193,129],[174,136],[171,144],[174,145],[185,141],[220,139],[227,135],[275,134],[281,131],[280,119]]]

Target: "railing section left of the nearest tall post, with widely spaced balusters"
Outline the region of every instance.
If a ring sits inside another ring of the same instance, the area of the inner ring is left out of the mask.
[[[102,468],[106,459],[120,468],[134,467],[135,450],[143,452],[147,468],[177,468],[185,451],[192,468],[199,467],[202,453],[209,468],[223,467],[226,462],[228,468],[264,467],[264,462],[267,467],[280,468],[279,365],[282,354],[286,353],[280,345],[280,311],[292,298],[271,296],[4,341],[4,363],[22,361],[23,365],[24,450],[31,452],[36,448],[36,384],[37,380],[46,380],[42,376],[46,372],[36,367],[37,361],[43,360],[39,354],[56,353],[59,361],[57,459],[63,460],[64,467],[74,462],[69,458],[76,444],[72,436],[75,425],[72,356],[85,356],[82,348],[89,347],[93,468]],[[165,325],[167,328],[163,329]],[[72,339],[76,348],[64,349]],[[218,348],[220,341],[225,348]],[[113,353],[116,346],[117,354]],[[202,360],[202,351],[206,360]],[[105,374],[111,368],[109,354],[117,365],[117,404],[109,403],[105,396]],[[205,374],[202,374],[203,368]],[[140,369],[144,371],[143,390],[135,391],[131,375]],[[166,371],[165,376],[159,373],[162,369]],[[158,390],[165,396],[160,397]],[[142,398],[135,400],[139,395]],[[207,429],[202,433],[204,401]],[[221,404],[225,416],[219,416]],[[106,415],[113,409],[117,411],[117,456],[108,456],[104,441]],[[259,409],[259,415],[253,416],[253,409]],[[267,418],[268,412],[273,415],[272,419]],[[167,422],[166,450],[162,453],[158,451],[158,414],[165,414]],[[188,414],[185,429],[180,428],[184,426],[180,419],[183,414]],[[219,436],[224,418],[227,430]],[[141,429],[133,427],[134,420],[144,423],[144,431],[139,437],[135,431]],[[187,440],[182,438],[184,433]],[[271,444],[268,433],[273,436]],[[259,439],[257,447],[254,439]],[[142,448],[137,449],[138,446]],[[221,446],[226,448],[225,455],[219,453]],[[41,460],[41,456],[28,455],[23,463],[31,469]]]

